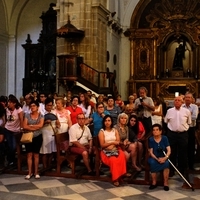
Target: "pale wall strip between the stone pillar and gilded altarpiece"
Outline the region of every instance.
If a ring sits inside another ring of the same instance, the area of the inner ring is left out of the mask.
[[[130,20],[134,12],[135,6],[139,0],[108,0],[107,9],[111,12],[116,11],[114,19],[119,22],[125,31],[130,27]],[[107,49],[110,52],[110,61],[107,67],[110,71],[116,69],[117,71],[117,87],[122,99],[127,100],[128,90],[127,81],[130,78],[130,41],[129,38],[123,34],[119,38],[111,31],[110,27],[107,29]],[[113,55],[117,54],[117,65],[113,65]]]

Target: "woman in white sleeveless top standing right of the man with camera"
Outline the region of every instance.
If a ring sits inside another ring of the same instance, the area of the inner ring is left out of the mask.
[[[154,105],[155,105],[155,110],[154,112],[152,112],[151,116],[152,125],[160,124],[162,126],[162,117],[163,117],[162,104],[160,103],[160,100],[158,98],[154,99]]]

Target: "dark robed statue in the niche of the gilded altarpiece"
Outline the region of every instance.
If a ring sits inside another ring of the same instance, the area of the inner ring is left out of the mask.
[[[185,59],[186,42],[183,41],[176,48],[173,62],[173,70],[183,70],[183,59]]]

